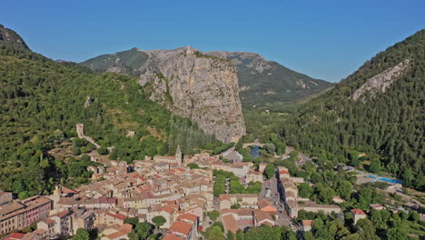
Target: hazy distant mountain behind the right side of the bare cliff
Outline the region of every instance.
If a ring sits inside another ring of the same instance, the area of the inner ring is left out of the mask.
[[[254,53],[213,51],[207,55],[229,59],[237,67],[243,105],[294,102],[332,86]]]

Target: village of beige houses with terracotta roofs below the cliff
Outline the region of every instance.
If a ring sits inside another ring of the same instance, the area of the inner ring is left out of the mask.
[[[81,125],[77,130],[80,138],[86,138]],[[95,229],[102,240],[130,239],[134,229],[128,219],[154,225],[164,240],[203,239],[201,233],[215,220],[222,223],[224,233],[236,234],[262,225],[285,225],[305,233],[311,230],[313,221],[295,221],[300,211],[339,215],[342,209],[337,204],[345,202],[333,196],[336,205],[325,205],[301,197],[303,177],[293,177],[288,168],[276,166],[267,179],[268,164],[255,167],[252,162],[243,162],[233,147],[219,155],[183,155],[177,146],[175,155],[146,156],[132,164],[110,160],[96,151],[88,155],[97,164],[87,167],[93,173],[88,185],[75,189],[57,185],[52,195],[23,200],[0,191],[0,235],[6,235],[1,239],[64,239],[76,235],[79,229]],[[303,155],[297,164],[308,160]],[[224,178],[223,193],[214,189],[222,181],[219,177]],[[367,180],[364,175],[358,178],[361,183]],[[242,188],[257,184],[261,189],[231,193],[231,179],[237,179]],[[384,206],[372,204],[371,208],[381,210]],[[350,211],[354,225],[367,217],[361,209]],[[218,213],[215,219],[210,215],[213,212]],[[35,231],[17,232],[31,225],[36,225]]]

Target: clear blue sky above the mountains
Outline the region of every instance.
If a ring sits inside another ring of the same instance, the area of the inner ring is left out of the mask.
[[[190,44],[255,52],[332,82],[425,28],[424,0],[3,0],[0,12],[0,24],[53,59]]]

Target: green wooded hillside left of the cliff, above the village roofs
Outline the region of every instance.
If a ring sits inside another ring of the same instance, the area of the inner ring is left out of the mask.
[[[111,158],[127,162],[173,154],[177,145],[185,154],[222,145],[148,100],[132,77],[94,74],[81,65],[0,44],[0,189],[34,195],[46,194],[60,179],[84,183],[87,157],[64,164],[47,154],[76,136],[78,123],[102,145],[102,154],[114,146]],[[128,131],[135,135],[126,136]],[[92,148],[73,141],[74,155]]]

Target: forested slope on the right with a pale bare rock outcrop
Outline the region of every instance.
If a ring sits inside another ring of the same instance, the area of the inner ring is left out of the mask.
[[[290,145],[319,153],[340,146],[381,155],[406,185],[424,185],[425,30],[367,61],[282,127]]]

